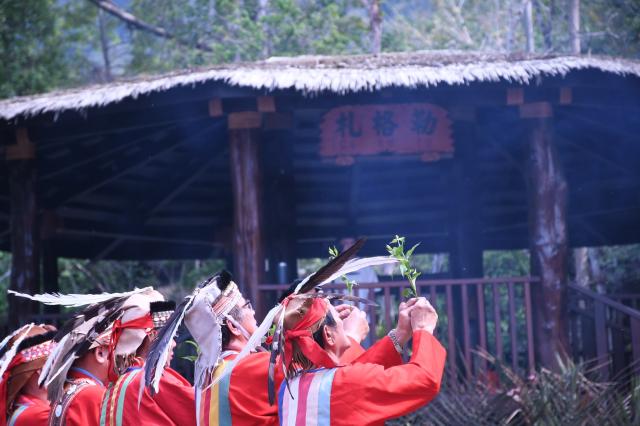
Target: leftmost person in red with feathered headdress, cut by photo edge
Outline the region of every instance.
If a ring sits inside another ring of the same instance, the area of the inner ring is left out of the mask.
[[[0,344],[0,426],[47,424],[47,390],[38,384],[38,375],[54,335],[53,326],[28,324]]]

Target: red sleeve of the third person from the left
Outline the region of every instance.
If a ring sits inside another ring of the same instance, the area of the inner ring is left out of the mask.
[[[148,390],[145,389],[145,392]],[[160,379],[160,392],[153,400],[177,425],[196,424],[196,402],[193,386],[177,371],[166,368]]]

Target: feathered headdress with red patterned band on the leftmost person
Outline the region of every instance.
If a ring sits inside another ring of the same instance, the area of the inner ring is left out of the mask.
[[[51,326],[27,324],[0,342],[0,425],[26,382],[42,367],[51,353],[55,330]]]

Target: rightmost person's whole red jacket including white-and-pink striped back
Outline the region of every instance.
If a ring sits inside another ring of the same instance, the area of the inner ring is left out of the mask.
[[[302,374],[282,385],[280,424],[384,425],[431,401],[440,391],[446,351],[426,331],[413,334],[413,355],[385,368],[353,363]]]

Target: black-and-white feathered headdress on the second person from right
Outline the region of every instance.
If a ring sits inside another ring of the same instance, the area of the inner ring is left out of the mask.
[[[147,356],[144,382],[152,394],[159,391],[160,378],[171,351],[171,341],[183,321],[198,343],[194,386],[196,389],[202,388],[218,365],[222,351],[222,324],[241,298],[242,294],[231,281],[231,275],[222,271],[200,283],[193,293],[183,299],[166,326],[160,330]]]

